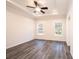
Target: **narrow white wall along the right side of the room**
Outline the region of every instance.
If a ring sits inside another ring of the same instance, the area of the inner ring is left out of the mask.
[[[70,46],[70,51],[73,56],[73,13],[72,7],[70,7],[66,19],[66,41]],[[70,18],[69,18],[70,17]]]

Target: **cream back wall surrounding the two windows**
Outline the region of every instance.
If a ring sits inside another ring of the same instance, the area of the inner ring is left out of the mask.
[[[55,36],[54,34],[54,22],[59,21],[63,24],[63,36]],[[65,41],[65,18],[64,17],[42,17],[37,18],[36,24],[43,24],[44,35],[35,35],[36,39],[56,40]]]

